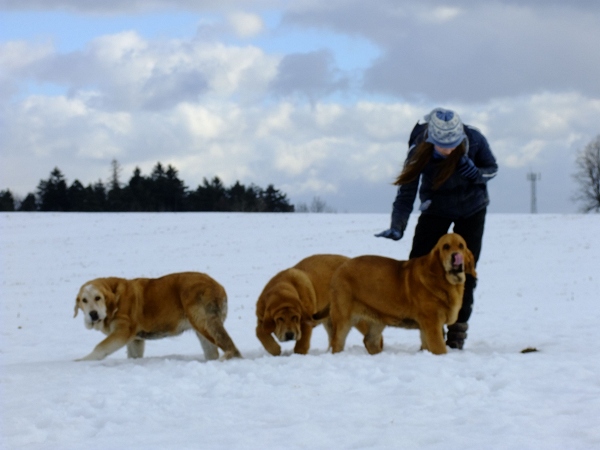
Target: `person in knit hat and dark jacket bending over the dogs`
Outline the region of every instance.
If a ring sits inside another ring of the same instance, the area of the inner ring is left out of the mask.
[[[464,125],[454,111],[435,108],[424,120],[411,132],[408,156],[394,182],[398,192],[391,226],[375,236],[402,238],[418,191],[421,214],[409,258],[429,253],[454,224],[453,231],[465,239],[477,263],[490,202],[487,182],[498,171],[496,158],[483,134]],[[458,320],[448,326],[446,334],[450,348],[464,346],[476,284],[477,280],[467,275]]]

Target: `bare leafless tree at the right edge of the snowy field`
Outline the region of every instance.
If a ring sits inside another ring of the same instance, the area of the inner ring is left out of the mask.
[[[579,191],[573,199],[582,203],[582,212],[600,212],[600,134],[579,152],[575,165]]]

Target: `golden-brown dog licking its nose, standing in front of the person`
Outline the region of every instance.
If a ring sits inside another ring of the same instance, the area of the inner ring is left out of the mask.
[[[332,352],[344,349],[351,327],[362,320],[368,323],[364,343],[370,354],[381,352],[388,325],[419,329],[422,349],[446,353],[444,324],[456,322],[465,273],[476,276],[475,260],[458,234],[442,236],[428,255],[408,261],[382,256],[347,261],[331,281]]]

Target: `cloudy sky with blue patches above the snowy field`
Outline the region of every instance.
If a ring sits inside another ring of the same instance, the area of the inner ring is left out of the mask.
[[[595,0],[0,0],[0,190],[161,162],[192,190],[391,212],[410,130],[442,106],[498,160],[490,212],[529,212],[531,172],[538,212],[574,213],[598,42]]]

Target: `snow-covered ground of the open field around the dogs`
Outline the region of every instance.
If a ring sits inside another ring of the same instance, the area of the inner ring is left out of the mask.
[[[314,253],[404,259],[387,214],[0,215],[2,449],[600,448],[600,215],[489,215],[463,351],[388,328],[327,353],[266,353],[255,303]],[[74,362],[102,338],[73,319],[99,276],[197,270],[225,286],[244,359],[204,361],[193,333]],[[539,351],[522,354],[526,347]]]

